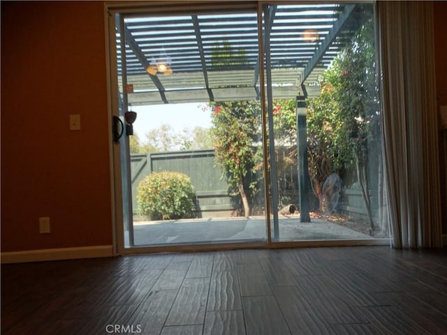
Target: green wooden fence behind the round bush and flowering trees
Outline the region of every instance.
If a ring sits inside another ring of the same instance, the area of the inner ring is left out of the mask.
[[[221,177],[221,168],[214,162],[214,150],[204,149],[132,154],[133,214],[137,214],[138,211],[135,197],[138,184],[151,172],[160,171],[182,172],[191,178],[196,191],[196,216],[199,218],[237,216],[238,211],[242,209],[240,198],[228,194],[226,178]],[[279,176],[281,202],[298,204],[298,181],[295,180],[297,179],[295,174],[295,171],[287,171]],[[314,197],[314,195],[309,196]],[[376,194],[372,194],[372,200],[375,204]],[[254,214],[263,212],[263,195],[252,200],[251,208]],[[360,191],[356,188],[344,188],[340,198],[340,209],[344,214],[366,217],[365,204]]]

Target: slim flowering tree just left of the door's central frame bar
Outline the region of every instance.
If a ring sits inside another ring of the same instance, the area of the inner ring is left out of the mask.
[[[250,215],[250,206],[244,188],[247,173],[256,166],[254,144],[258,142],[260,105],[256,101],[226,101],[210,103],[214,155],[234,194],[239,194],[244,216]],[[257,181],[249,188],[256,189]]]

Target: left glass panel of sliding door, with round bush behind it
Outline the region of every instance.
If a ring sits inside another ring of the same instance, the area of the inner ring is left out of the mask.
[[[120,27],[126,246],[266,243],[256,10]]]

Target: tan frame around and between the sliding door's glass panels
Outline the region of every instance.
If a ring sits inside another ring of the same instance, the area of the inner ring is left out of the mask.
[[[119,106],[118,98],[119,91],[117,87],[117,67],[116,67],[116,41],[115,41],[115,22],[117,19],[117,14],[131,15],[132,13],[147,13],[150,7],[151,13],[182,13],[182,10],[198,10],[205,9],[210,10],[209,3],[204,6],[200,1],[196,3],[184,3],[183,1],[175,2],[175,10],[169,8],[169,4],[164,1],[142,1],[142,2],[125,2],[125,1],[110,1],[105,2],[105,24],[106,24],[106,54],[107,60],[106,64],[108,66],[107,79],[108,79],[108,107],[109,107],[109,120],[113,116],[119,116]],[[335,1],[339,2],[339,1]],[[356,1],[358,2],[358,1]],[[263,41],[263,36],[265,31],[263,31],[263,6],[266,4],[272,4],[274,1],[240,1],[237,3],[231,3],[231,7],[241,8],[241,9],[251,9],[256,11],[258,17],[258,43],[259,43],[259,57],[260,64],[264,64],[265,59],[265,43]],[[301,3],[301,2],[300,2]],[[213,7],[216,10],[228,9],[228,4],[226,3],[213,3]],[[268,46],[267,46],[268,47]],[[266,72],[265,72],[266,71]],[[112,141],[112,122],[109,121],[110,126],[110,169],[111,169],[111,181],[112,181],[112,237],[114,245],[115,255],[124,255],[131,253],[160,253],[160,252],[187,252],[187,251],[220,251],[220,250],[232,250],[235,248],[291,248],[291,247],[309,247],[309,246],[357,246],[357,245],[388,245],[390,242],[388,239],[371,239],[371,240],[328,240],[328,241],[272,241],[271,225],[272,218],[275,232],[278,229],[278,215],[276,213],[271,213],[270,207],[272,204],[277,204],[274,201],[278,197],[278,190],[270,190],[270,180],[275,180],[276,169],[272,168],[269,172],[268,169],[268,148],[270,147],[270,152],[274,153],[272,149],[272,142],[268,143],[266,140],[268,137],[267,124],[269,122],[269,117],[272,114],[272,96],[271,87],[268,87],[267,92],[265,89],[265,75],[267,76],[267,84],[269,82],[269,70],[265,70],[264,66],[259,68],[260,83],[261,83],[261,113],[262,113],[262,132],[263,132],[263,156],[264,156],[264,192],[265,192],[265,228],[267,230],[267,240],[266,241],[243,241],[243,242],[228,242],[228,243],[203,243],[203,244],[176,244],[176,245],[166,245],[166,246],[132,246],[127,248],[124,245],[124,196],[123,192],[124,186],[122,181],[122,160],[120,159],[121,154],[121,144],[116,144]],[[270,94],[268,93],[270,91]],[[267,102],[267,105],[266,105]],[[125,104],[126,105],[126,104]],[[124,107],[126,107],[124,105]],[[271,127],[270,127],[271,128]],[[128,137],[124,136],[124,142],[129,148]],[[130,165],[130,157],[127,155],[126,164]],[[130,174],[129,174],[130,179]],[[276,184],[276,183],[274,183]],[[271,198],[270,198],[271,197]],[[272,202],[272,204],[270,204]],[[273,216],[273,217],[272,217]]]

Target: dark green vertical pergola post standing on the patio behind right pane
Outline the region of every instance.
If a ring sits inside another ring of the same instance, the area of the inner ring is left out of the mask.
[[[307,168],[307,126],[306,101],[304,96],[297,96],[296,133],[298,149],[298,189],[300,202],[300,221],[310,222],[309,215],[309,170]]]

